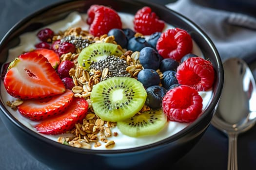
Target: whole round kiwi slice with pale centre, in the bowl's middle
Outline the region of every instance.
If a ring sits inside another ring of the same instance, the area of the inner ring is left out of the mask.
[[[111,77],[94,85],[91,103],[103,120],[121,121],[141,110],[147,98],[143,85],[130,77]]]

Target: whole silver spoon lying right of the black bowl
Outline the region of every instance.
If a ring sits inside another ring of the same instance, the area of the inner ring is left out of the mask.
[[[256,83],[248,65],[230,58],[223,63],[224,85],[212,125],[229,138],[228,170],[237,170],[237,136],[256,122]]]

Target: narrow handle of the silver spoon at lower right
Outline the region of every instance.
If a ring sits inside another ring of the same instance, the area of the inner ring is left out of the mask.
[[[237,134],[228,133],[228,170],[237,170]]]

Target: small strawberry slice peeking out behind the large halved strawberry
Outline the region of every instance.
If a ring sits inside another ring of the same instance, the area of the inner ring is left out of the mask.
[[[59,66],[59,63],[60,63],[59,54],[56,53],[55,51],[39,48],[32,52],[42,54],[51,63],[53,68],[56,69]]]

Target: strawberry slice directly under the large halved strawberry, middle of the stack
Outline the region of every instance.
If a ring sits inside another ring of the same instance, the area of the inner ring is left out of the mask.
[[[73,100],[73,92],[69,89],[65,93],[52,98],[27,100],[18,106],[18,110],[24,117],[39,121],[55,115],[60,115]]]

